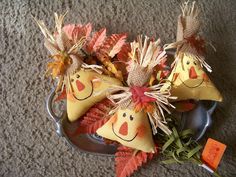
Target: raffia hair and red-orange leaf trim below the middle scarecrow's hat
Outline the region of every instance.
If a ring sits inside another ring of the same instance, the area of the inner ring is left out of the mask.
[[[134,109],[136,112],[143,110],[148,114],[152,125],[153,134],[157,133],[157,127],[159,127],[166,134],[171,134],[171,131],[165,125],[167,122],[165,120],[164,110],[167,113],[170,113],[169,107],[174,108],[174,106],[169,103],[169,99],[175,99],[176,97],[171,97],[169,90],[164,92],[160,91],[162,86],[163,84],[158,84],[151,87],[139,87],[140,90],[146,90],[143,92],[142,97],[132,92],[132,89],[134,89],[133,87],[111,86],[111,88],[107,91],[110,93],[116,93],[108,94],[108,99],[117,105],[116,108],[112,110],[111,114],[120,108]],[[134,102],[133,97],[136,97],[139,101]]]

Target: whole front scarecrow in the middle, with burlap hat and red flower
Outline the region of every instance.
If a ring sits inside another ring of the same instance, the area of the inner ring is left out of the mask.
[[[165,59],[161,51],[160,40],[150,41],[138,37],[131,43],[131,53],[128,66],[127,87],[111,86],[108,98],[116,104],[114,114],[108,122],[97,130],[97,134],[110,140],[144,152],[155,151],[152,132],[161,128],[165,133],[171,131],[163,120],[163,110],[168,111],[171,98],[167,89],[161,93],[162,85],[149,86],[154,67]]]

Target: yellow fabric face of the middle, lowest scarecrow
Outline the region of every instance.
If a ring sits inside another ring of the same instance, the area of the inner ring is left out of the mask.
[[[126,127],[124,127],[125,124]],[[125,128],[127,128],[126,131]],[[143,111],[119,109],[106,124],[97,130],[97,134],[144,152],[154,152],[155,149],[149,120]]]

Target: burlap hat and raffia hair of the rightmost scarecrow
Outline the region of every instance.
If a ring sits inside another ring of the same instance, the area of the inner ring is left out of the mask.
[[[178,17],[176,42],[164,46],[165,50],[176,48],[176,57],[172,67],[175,66],[177,61],[182,61],[181,55],[184,53],[199,61],[201,66],[204,66],[208,72],[212,72],[211,66],[206,63],[204,57],[205,41],[197,34],[200,27],[198,20],[200,10],[195,5],[195,1],[192,5],[185,2],[181,6],[181,10],[182,15]]]

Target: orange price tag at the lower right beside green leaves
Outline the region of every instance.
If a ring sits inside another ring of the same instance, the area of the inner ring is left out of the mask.
[[[213,170],[216,170],[225,152],[226,145],[209,138],[202,152],[202,160]]]

